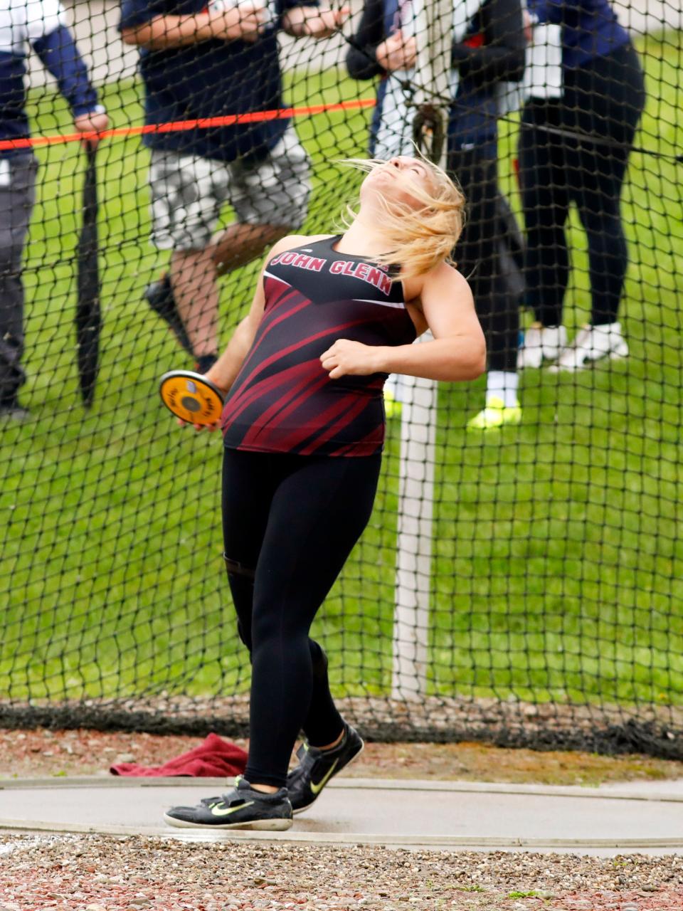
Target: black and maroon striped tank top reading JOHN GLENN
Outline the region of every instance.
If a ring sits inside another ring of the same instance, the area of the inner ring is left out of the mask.
[[[301,455],[382,450],[387,374],[331,380],[321,353],[337,339],[409,344],[403,285],[362,256],[337,253],[340,237],[280,253],[263,276],[265,310],[221,416],[229,449]]]

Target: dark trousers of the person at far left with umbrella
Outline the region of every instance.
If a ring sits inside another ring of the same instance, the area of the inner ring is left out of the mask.
[[[0,405],[14,404],[25,381],[21,260],[36,199],[33,155],[0,155]]]

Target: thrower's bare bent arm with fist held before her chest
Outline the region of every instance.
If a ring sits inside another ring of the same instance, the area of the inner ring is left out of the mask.
[[[321,355],[331,379],[346,374],[407,374],[455,383],[483,374],[484,333],[470,286],[460,272],[445,263],[437,266],[423,278],[420,299],[432,340],[391,347],[339,339]]]

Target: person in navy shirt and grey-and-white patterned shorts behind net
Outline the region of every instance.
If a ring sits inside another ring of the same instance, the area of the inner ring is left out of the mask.
[[[317,0],[123,0],[123,40],[140,48],[148,124],[282,107],[277,31],[330,36],[348,10]],[[152,242],[170,270],[150,306],[208,369],[218,349],[219,274],[260,256],[306,217],[311,165],[291,121],[148,133]],[[214,240],[229,202],[236,220]]]

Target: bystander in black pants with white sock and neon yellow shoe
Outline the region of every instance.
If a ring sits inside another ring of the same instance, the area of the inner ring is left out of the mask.
[[[469,0],[455,8],[458,80],[448,124],[447,169],[457,175],[468,198],[454,255],[470,276],[488,348],[484,408],[467,427],[486,431],[518,424],[522,417],[516,373],[519,289],[501,255],[497,118],[506,84],[524,76],[526,37],[520,0],[484,0],[477,9]]]

